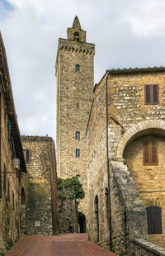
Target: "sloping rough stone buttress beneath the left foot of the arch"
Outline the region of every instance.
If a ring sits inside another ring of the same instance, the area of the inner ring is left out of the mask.
[[[111,225],[115,253],[127,255],[130,240],[147,239],[147,217],[127,166],[111,162]]]

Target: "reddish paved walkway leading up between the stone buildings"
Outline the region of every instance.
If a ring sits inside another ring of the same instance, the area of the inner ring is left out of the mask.
[[[117,256],[87,241],[87,234],[24,235],[6,256]]]

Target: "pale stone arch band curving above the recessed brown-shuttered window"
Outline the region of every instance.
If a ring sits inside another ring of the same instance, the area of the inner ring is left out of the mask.
[[[158,134],[165,135],[165,121],[163,120],[145,120],[138,124],[131,126],[129,130],[125,131],[122,136],[117,149],[117,158],[122,159],[125,146],[134,140],[136,135],[143,135],[145,130],[159,130]]]

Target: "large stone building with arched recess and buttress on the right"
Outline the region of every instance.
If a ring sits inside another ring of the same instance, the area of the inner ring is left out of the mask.
[[[139,255],[137,248],[152,247],[146,239],[165,246],[164,95],[163,67],[107,70],[94,88],[87,125],[89,236],[111,242],[118,254]]]

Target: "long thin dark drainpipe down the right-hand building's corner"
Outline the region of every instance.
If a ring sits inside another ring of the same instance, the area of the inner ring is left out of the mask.
[[[106,163],[107,163],[107,179],[108,179],[108,211],[109,211],[109,244],[110,251],[112,250],[111,240],[111,193],[110,193],[110,163],[109,163],[109,145],[108,145],[108,90],[107,79],[110,73],[106,71]]]

